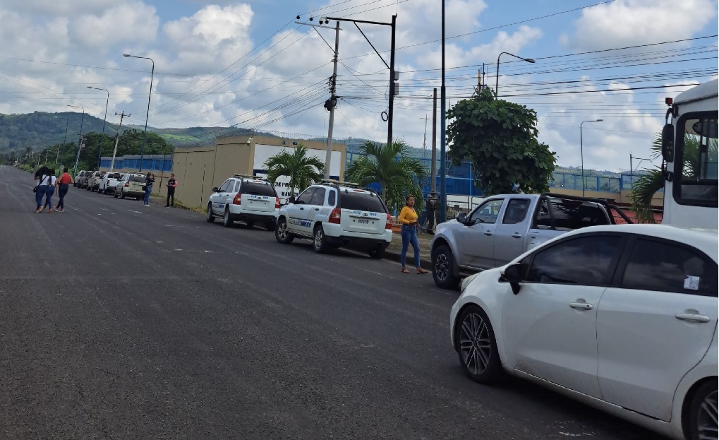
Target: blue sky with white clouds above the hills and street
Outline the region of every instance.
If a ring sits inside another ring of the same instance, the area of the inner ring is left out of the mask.
[[[472,96],[484,65],[500,99],[536,111],[560,166],[580,166],[582,125],[585,168],[626,170],[630,154],[650,158],[664,98],[717,77],[718,9],[717,0],[446,0],[447,106]],[[423,148],[426,130],[429,151],[441,85],[441,2],[431,0],[3,0],[0,113],[81,111],[74,105],[103,118],[106,91],[91,86],[109,91],[115,124],[124,112],[132,125],[147,116],[159,128],[326,135],[335,31],[296,16],[393,14],[393,135]],[[390,27],[359,24],[369,42],[352,22],[340,27],[334,138],[385,141]],[[511,55],[496,76],[502,52]]]

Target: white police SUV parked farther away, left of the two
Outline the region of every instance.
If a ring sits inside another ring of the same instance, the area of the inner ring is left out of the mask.
[[[280,198],[270,182],[244,174],[234,174],[219,188],[212,189],[207,203],[207,221],[222,218],[229,228],[235,221],[242,221],[252,228],[256,222],[264,223],[267,230],[275,229]]]

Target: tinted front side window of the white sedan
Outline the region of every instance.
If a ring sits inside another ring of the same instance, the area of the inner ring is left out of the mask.
[[[617,235],[592,235],[562,241],[534,254],[526,282],[603,285],[619,248]]]

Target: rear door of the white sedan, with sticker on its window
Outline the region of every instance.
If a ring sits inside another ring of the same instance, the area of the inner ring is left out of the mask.
[[[704,357],[718,318],[717,264],[696,248],[638,237],[597,310],[604,400],[663,421]]]

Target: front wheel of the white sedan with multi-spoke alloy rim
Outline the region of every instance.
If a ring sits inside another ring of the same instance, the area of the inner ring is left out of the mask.
[[[492,323],[484,310],[470,305],[457,320],[454,341],[464,374],[481,384],[497,384],[505,377]]]

